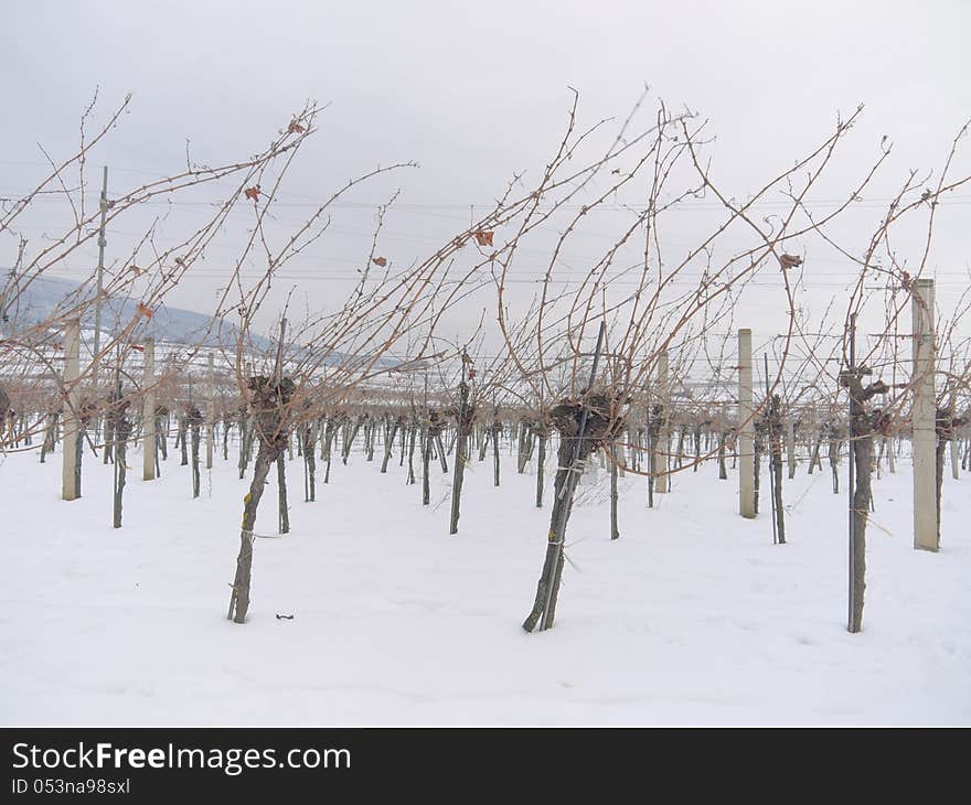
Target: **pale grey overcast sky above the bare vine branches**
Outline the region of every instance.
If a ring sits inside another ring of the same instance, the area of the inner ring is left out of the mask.
[[[593,122],[625,116],[647,84],[652,105],[663,98],[709,120],[715,173],[739,196],[863,103],[836,179],[849,189],[887,135],[893,157],[873,191],[883,197],[908,169],[939,168],[971,117],[969,31],[967,0],[7,2],[0,195],[40,175],[39,141],[71,152],[96,87],[103,115],[134,94],[94,157],[111,168],[113,187],[179,170],[186,139],[202,162],[252,153],[314,98],[330,106],[289,198],[309,204],[375,163],[417,161],[418,170],[359,194],[378,203],[403,189],[383,248],[409,259],[465,226],[470,205],[487,205],[514,171],[542,168],[563,131],[568,86]],[[969,150],[956,173],[971,172]],[[969,216],[971,191],[941,216],[932,268],[942,299],[967,280]],[[311,304],[329,296],[313,271],[366,254],[370,224],[343,222],[305,261]],[[0,248],[9,262],[9,244]],[[832,256],[810,257],[808,267],[820,300],[839,291],[844,269]],[[201,275],[172,301],[204,310],[217,285]],[[756,329],[773,326],[758,320],[757,304],[747,315]]]

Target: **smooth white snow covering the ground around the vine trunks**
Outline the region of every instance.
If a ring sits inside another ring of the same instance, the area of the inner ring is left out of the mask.
[[[654,511],[643,479],[623,479],[617,541],[587,486],[567,535],[579,572],[565,570],[555,629],[526,634],[549,512],[534,475],[506,461],[494,489],[477,458],[457,536],[440,468],[423,508],[397,457],[382,475],[380,454],[355,452],[316,503],[290,463],[292,533],[257,540],[243,626],[225,618],[248,484],[232,454],[196,501],[172,451],[151,483],[132,454],[119,530],[110,469],[89,453],[72,503],[60,452],[0,458],[0,721],[971,723],[971,479],[948,472],[937,555],[913,548],[909,462],[875,482],[856,635],[829,468],[787,484],[785,546],[767,512],[736,514],[735,475],[714,463],[676,475]],[[275,481],[257,530],[276,533]]]

